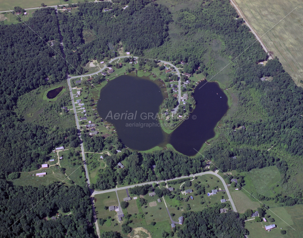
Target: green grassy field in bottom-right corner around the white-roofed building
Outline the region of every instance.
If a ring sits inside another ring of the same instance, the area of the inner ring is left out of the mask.
[[[303,237],[303,205],[292,207],[278,207],[267,210],[266,213],[275,219],[275,222],[249,221],[245,223],[245,228],[249,230],[248,238],[302,238]],[[279,218],[279,217],[281,218]],[[275,224],[276,229],[266,232],[264,226]],[[286,230],[286,235],[281,235],[280,231]]]

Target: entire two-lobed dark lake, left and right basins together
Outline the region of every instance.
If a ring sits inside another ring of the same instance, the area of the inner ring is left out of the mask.
[[[214,127],[228,110],[227,96],[219,85],[205,82],[194,90],[193,113],[170,135],[162,131],[156,118],[167,96],[161,80],[127,75],[109,81],[101,89],[98,113],[114,125],[122,143],[131,149],[145,151],[169,143],[176,151],[194,156],[195,150],[215,136]]]

